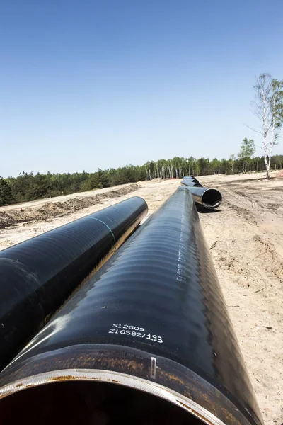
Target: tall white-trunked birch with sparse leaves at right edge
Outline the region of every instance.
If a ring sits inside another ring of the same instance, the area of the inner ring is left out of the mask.
[[[262,135],[266,178],[270,178],[272,149],[278,143],[283,123],[283,80],[272,79],[270,74],[260,74],[255,86],[253,112],[260,120],[260,128],[251,128]]]

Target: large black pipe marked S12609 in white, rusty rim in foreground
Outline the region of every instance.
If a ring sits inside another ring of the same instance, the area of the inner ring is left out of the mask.
[[[106,382],[101,392],[97,382]],[[191,414],[209,425],[262,424],[190,191],[180,186],[149,217],[8,365],[0,386],[3,425],[30,419],[35,404],[37,423],[47,414],[56,421],[64,391],[71,412],[88,414],[92,403],[109,424],[195,424]],[[186,421],[154,413],[144,421],[139,414],[155,404],[132,404],[131,388],[184,409]]]

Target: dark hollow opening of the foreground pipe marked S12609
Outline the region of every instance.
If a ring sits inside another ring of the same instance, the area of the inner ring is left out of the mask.
[[[132,387],[87,380],[52,382],[0,400],[1,424],[200,425],[196,416]]]

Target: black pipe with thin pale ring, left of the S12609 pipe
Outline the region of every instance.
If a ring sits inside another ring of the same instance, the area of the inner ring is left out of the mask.
[[[0,252],[0,368],[146,215],[134,197]]]

